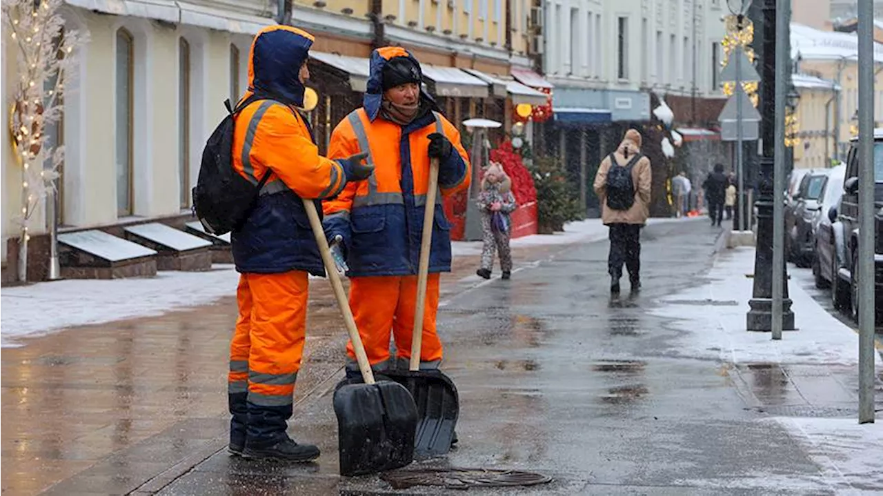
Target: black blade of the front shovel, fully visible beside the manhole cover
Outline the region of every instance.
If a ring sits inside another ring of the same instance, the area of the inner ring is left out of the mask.
[[[417,408],[396,382],[347,384],[334,394],[343,476],[373,474],[414,460]]]

